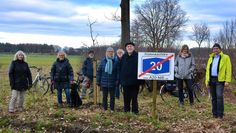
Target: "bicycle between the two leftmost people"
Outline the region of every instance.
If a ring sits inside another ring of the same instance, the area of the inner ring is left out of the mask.
[[[49,79],[50,77],[47,77],[46,75],[42,75],[41,71],[42,68],[38,68],[36,66],[30,66],[31,69],[35,69],[36,70],[36,75],[35,78],[33,80],[32,83],[32,87],[34,88],[34,92],[38,92],[38,90],[40,90],[40,92],[45,95],[49,89]]]

